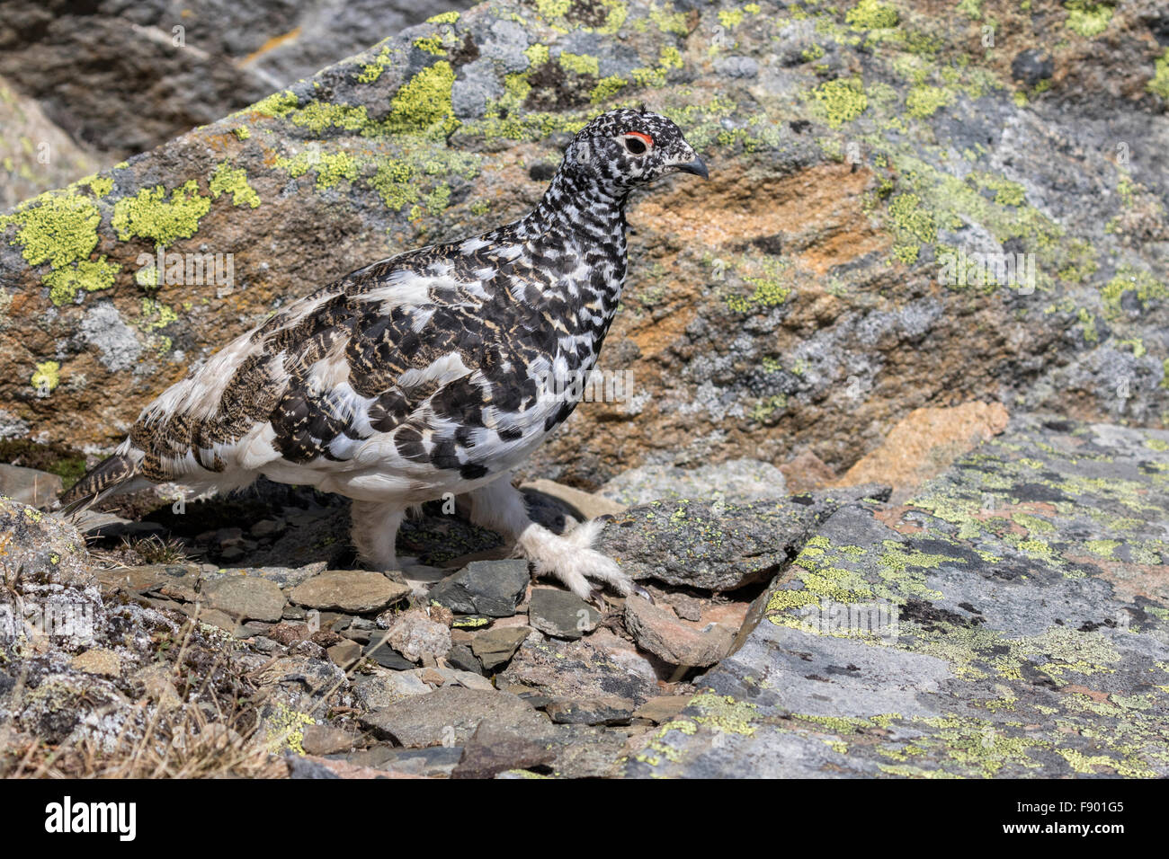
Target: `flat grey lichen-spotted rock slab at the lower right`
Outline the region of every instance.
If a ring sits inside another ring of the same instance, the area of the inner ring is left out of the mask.
[[[1165,776],[1169,434],[1021,421],[842,508],[628,775]]]

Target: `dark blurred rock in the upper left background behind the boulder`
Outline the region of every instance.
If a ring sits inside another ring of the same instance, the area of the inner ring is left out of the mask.
[[[115,155],[112,164],[307,77],[379,35],[468,5],[193,0],[180,11],[165,0],[8,0],[0,75],[40,99],[76,139]]]

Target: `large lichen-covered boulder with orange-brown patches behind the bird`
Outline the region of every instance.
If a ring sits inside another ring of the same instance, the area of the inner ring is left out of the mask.
[[[35,30],[36,5],[18,6]],[[976,399],[1162,425],[1161,6],[498,0],[441,16],[0,217],[0,436],[115,444],[290,298],[521,214],[568,133],[643,99],[712,178],[632,199],[601,366],[620,402],[579,409],[533,473],[596,486],[644,463],[803,452],[841,473],[913,409]],[[298,21],[215,9],[265,23],[192,25],[187,50],[230,37],[254,54]],[[159,20],[120,53],[172,51]],[[47,25],[37,50],[113,35],[76,25]],[[0,74],[44,77],[8,56]],[[184,70],[201,105],[264,89],[230,63]],[[82,125],[126,113],[94,110]],[[175,111],[144,122],[215,116]],[[186,255],[161,283],[159,247]]]

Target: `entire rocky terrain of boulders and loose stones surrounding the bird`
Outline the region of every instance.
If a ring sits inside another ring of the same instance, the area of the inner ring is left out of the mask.
[[[160,144],[0,215],[0,771],[1169,775],[1163,5],[492,0],[368,48],[386,4],[186,6],[0,21],[0,206]],[[621,395],[519,477],[652,600],[458,504],[390,574],[297,487],[48,512],[226,338],[642,102],[711,180],[632,199]]]

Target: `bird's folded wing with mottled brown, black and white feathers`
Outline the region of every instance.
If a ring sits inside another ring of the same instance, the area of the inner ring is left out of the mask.
[[[555,333],[513,297],[514,272],[451,248],[291,304],[147,406],[119,453],[153,482],[374,463],[483,476],[539,417]]]

